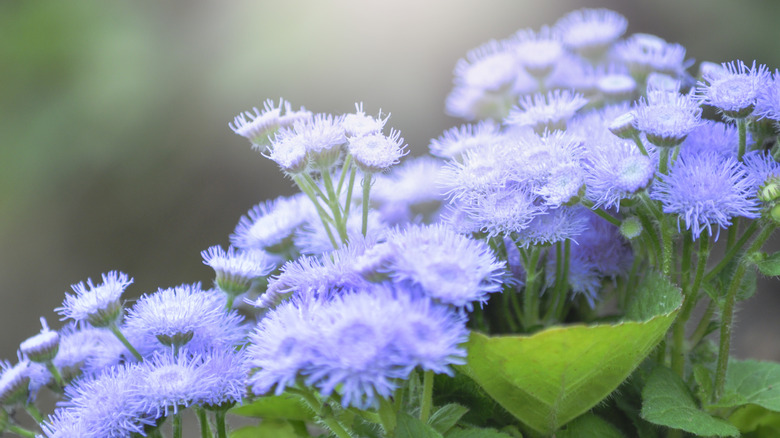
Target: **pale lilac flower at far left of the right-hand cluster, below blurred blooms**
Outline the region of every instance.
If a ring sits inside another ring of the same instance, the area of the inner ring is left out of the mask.
[[[444,131],[428,146],[437,157],[458,160],[468,150],[482,149],[500,141],[500,126],[492,120],[483,120],[473,125],[462,125]]]

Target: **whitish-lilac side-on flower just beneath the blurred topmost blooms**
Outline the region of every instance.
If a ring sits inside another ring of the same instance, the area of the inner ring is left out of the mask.
[[[504,123],[528,126],[537,133],[564,130],[566,122],[588,101],[579,93],[553,90],[546,94],[525,96],[512,108]]]

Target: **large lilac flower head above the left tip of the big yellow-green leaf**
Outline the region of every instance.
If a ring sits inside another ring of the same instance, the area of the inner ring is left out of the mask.
[[[395,282],[419,286],[442,303],[472,308],[501,290],[506,265],[482,241],[442,225],[410,226],[388,237],[386,270]]]

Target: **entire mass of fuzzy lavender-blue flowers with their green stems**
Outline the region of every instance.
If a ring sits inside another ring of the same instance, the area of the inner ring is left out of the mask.
[[[685,48],[626,29],[616,12],[583,9],[468,52],[446,110],[469,123],[404,163],[389,116],[362,103],[338,115],[269,100],[238,115],[231,129],[301,193],[252,207],[227,250],[201,253],[211,288],[161,288],[130,306],[125,273],[73,285],[55,309],[72,321],[52,330],[42,319],[18,362],[0,364],[0,433],[159,438],[171,418],[181,437],[192,409],[201,436],[213,436],[213,413],[225,437],[226,412],[243,403],[300,436],[319,433],[302,419],[340,438],[397,436],[412,415],[404,427],[426,436],[472,436],[445,432],[480,421],[513,433],[462,384],[474,377],[472,332],[531,335],[602,321],[609,306],[609,318],[629,317],[643,279],[659,274],[685,301],[655,367],[668,349],[679,385],[691,367],[701,404],[717,402],[748,264],[780,272],[759,251],[780,224],[780,73],[703,63],[694,80]],[[727,248],[708,270],[722,232]],[[707,357],[716,308],[717,363],[694,363]],[[501,366],[517,359],[499,356]],[[435,374],[446,382],[436,397]],[[60,402],[44,419],[36,400],[47,390]],[[434,401],[446,404],[437,417]],[[456,418],[455,402],[474,417]],[[632,410],[622,423],[652,422],[631,403],[616,404]],[[17,407],[40,434],[12,418]]]

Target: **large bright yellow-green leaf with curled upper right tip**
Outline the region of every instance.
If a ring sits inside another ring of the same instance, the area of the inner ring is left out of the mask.
[[[532,336],[472,333],[460,369],[520,421],[551,435],[631,374],[663,338],[682,302],[679,289],[657,274],[635,296],[631,312],[641,322],[553,327]]]

